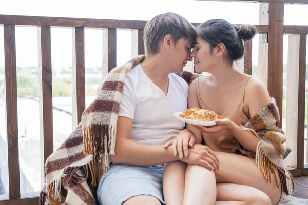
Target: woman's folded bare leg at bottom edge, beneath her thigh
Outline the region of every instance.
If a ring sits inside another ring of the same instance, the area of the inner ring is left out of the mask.
[[[218,183],[215,205],[271,205],[271,199],[264,192],[235,183]]]

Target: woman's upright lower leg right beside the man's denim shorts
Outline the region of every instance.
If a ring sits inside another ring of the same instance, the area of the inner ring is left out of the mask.
[[[165,163],[163,175],[164,201],[168,205],[182,205],[184,197],[185,171],[187,163],[174,161]]]

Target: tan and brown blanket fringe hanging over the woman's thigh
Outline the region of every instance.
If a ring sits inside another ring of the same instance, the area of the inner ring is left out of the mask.
[[[281,191],[287,196],[292,194],[292,190],[295,185],[291,173],[286,168],[278,167],[266,157],[260,141],[257,145],[256,163],[269,183],[272,182],[271,175],[274,174],[276,187],[280,188]]]

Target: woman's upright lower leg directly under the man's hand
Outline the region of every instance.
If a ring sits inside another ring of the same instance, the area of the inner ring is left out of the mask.
[[[216,180],[213,171],[199,165],[188,165],[185,175],[184,205],[214,204]]]

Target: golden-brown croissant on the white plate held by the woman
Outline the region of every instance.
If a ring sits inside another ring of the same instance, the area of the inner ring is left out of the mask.
[[[189,108],[182,112],[179,117],[198,121],[214,121],[215,119],[221,119],[221,116],[214,111],[200,108]]]

